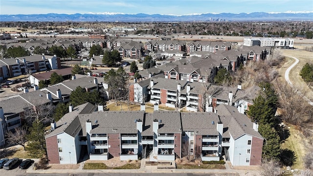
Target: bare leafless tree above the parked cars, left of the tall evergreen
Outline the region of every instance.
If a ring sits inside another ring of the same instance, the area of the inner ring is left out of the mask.
[[[26,127],[16,127],[14,129],[15,132],[7,131],[6,132],[6,138],[8,140],[9,144],[12,145],[21,145],[24,148],[25,151],[25,142],[27,142],[26,135],[27,135],[27,129]]]

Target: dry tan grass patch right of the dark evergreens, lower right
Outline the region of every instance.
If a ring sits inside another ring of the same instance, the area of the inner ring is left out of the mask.
[[[303,157],[306,153],[306,148],[303,143],[305,137],[302,136],[301,132],[295,129],[294,126],[288,125],[290,127],[290,136],[281,145],[281,149],[289,149],[294,152],[296,162],[293,164],[292,169],[304,169],[303,168]]]

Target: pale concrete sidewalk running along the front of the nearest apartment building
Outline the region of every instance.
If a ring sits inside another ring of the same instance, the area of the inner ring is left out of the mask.
[[[231,169],[228,163],[225,164],[226,169],[157,169],[157,166],[145,166],[146,159],[141,160],[140,169],[99,169],[84,170],[81,162],[78,169],[46,169],[33,170],[32,167],[27,169],[27,173],[62,173],[62,174],[84,174],[84,173],[195,173],[195,174],[222,174],[229,176],[259,176],[259,171],[251,170],[235,170]]]

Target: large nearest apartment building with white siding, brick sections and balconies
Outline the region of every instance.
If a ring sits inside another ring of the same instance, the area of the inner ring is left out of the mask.
[[[50,164],[92,160],[171,160],[191,155],[235,166],[260,165],[263,137],[246,115],[220,105],[219,113],[102,111],[87,103],[69,107],[45,136]],[[224,111],[223,113],[220,111]],[[86,157],[85,157],[86,158]]]

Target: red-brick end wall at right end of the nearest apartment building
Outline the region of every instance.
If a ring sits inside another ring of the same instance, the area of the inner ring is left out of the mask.
[[[261,165],[263,139],[253,137],[251,141],[250,166]]]

